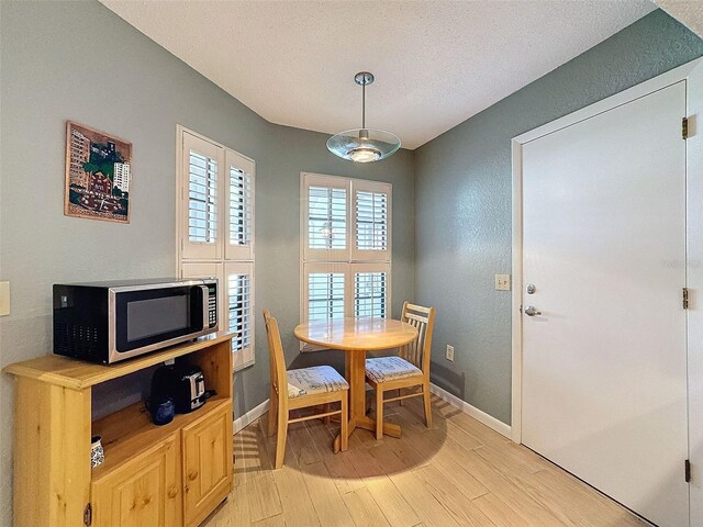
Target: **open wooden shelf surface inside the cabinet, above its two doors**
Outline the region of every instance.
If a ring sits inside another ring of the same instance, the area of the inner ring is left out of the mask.
[[[215,396],[190,414],[176,414],[172,422],[163,426],[152,423],[152,417],[143,402],[94,421],[92,435],[102,437],[105,460],[92,470],[92,481],[97,482],[110,475],[112,471],[142,455],[155,444],[227,405],[230,405],[228,397]]]

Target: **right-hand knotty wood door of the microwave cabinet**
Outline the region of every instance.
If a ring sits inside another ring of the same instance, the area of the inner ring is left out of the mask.
[[[205,408],[208,405],[204,406]],[[183,515],[198,525],[232,486],[232,405],[183,427]]]

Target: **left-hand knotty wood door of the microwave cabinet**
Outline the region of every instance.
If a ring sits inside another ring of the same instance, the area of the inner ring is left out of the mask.
[[[92,483],[97,527],[182,525],[180,445],[174,435]]]

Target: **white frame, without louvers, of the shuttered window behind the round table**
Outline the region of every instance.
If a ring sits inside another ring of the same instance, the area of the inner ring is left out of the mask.
[[[313,172],[300,173],[300,321],[309,322],[309,274],[312,272],[344,272],[344,316],[355,316],[355,273],[386,273],[386,316],[391,316],[392,283],[392,184]],[[345,249],[310,249],[309,189],[332,187],[346,189],[346,247]],[[387,248],[365,250],[356,248],[356,192],[377,192],[387,195]],[[303,351],[320,349],[301,345]]]

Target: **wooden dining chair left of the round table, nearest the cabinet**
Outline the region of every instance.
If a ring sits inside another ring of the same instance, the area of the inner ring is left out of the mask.
[[[342,419],[341,449],[348,445],[348,395],[349,384],[331,366],[314,366],[299,370],[286,370],[286,358],[278,322],[268,310],[264,310],[266,336],[270,358],[271,399],[268,411],[268,435],[278,428],[276,440],[276,468],[283,466],[286,436],[290,423],[319,419],[339,414]],[[339,410],[331,410],[332,403],[339,403]],[[290,418],[290,411],[323,405],[325,411],[319,414]]]

